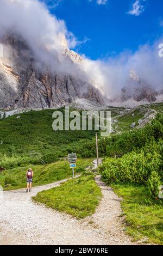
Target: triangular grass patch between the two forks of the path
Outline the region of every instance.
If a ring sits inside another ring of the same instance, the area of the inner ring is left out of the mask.
[[[80,219],[95,212],[101,197],[102,192],[95,182],[94,175],[85,173],[80,178],[68,180],[60,187],[39,192],[33,199]]]

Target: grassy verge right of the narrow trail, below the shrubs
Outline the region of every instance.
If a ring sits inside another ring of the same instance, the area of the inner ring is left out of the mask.
[[[152,200],[143,186],[112,185],[123,197],[126,231],[134,240],[163,245],[163,202]]]

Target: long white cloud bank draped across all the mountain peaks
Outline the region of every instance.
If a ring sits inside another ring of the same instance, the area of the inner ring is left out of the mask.
[[[115,97],[124,86],[131,86],[130,69],[155,89],[162,89],[163,59],[158,56],[161,39],[153,46],[141,46],[135,53],[123,52],[107,60],[91,60],[83,56],[83,62],[74,65],[62,56],[61,41],[65,45],[68,42],[69,47],[82,42],[67,30],[64,21],[49,13],[46,5],[38,0],[1,0],[0,24],[0,37],[9,30],[21,35],[32,48],[37,64],[51,66],[54,74],[64,72],[96,82],[108,97]],[[87,40],[85,38],[83,42]]]

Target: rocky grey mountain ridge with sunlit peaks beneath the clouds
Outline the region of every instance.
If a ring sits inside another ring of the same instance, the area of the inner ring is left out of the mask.
[[[83,57],[68,48],[64,35],[59,34],[59,39],[61,54],[53,52],[53,70],[36,60],[33,50],[20,36],[9,33],[0,40],[4,46],[4,57],[0,58],[0,109],[55,108],[77,99],[120,107],[163,100],[162,91],[156,92],[132,69],[119,96],[108,99],[96,81],[87,82],[84,77]],[[72,74],[59,71],[58,66],[64,62],[74,68]]]

